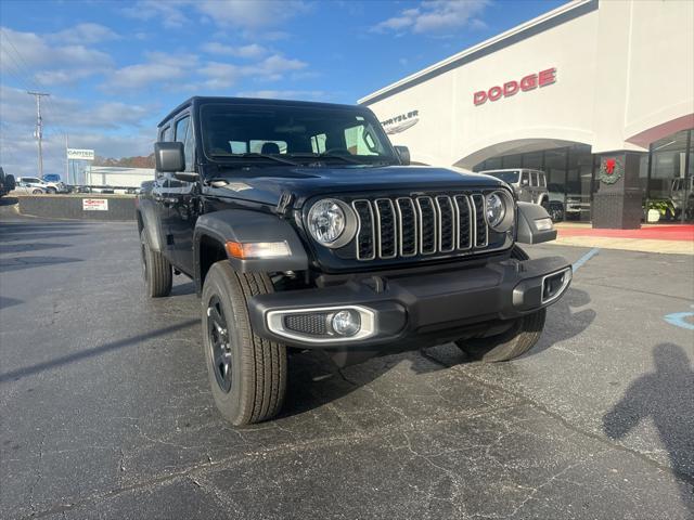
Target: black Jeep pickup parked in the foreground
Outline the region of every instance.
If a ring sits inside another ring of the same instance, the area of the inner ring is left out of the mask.
[[[409,166],[360,106],[193,98],[158,127],[137,218],[146,290],[202,298],[211,393],[233,425],[273,417],[287,350],[338,366],[454,341],[506,361],[540,337],[571,266],[499,179]]]

